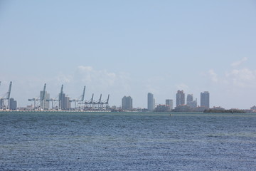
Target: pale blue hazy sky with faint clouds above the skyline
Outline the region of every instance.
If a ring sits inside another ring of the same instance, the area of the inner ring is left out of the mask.
[[[0,1],[0,97],[31,105],[47,84],[134,108],[210,93],[210,107],[256,105],[256,1]]]

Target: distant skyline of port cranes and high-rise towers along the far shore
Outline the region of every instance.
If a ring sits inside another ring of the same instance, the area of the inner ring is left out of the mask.
[[[1,83],[1,81],[0,81]],[[6,93],[7,96],[10,96],[11,94],[11,85],[12,85],[12,81],[9,84],[9,91]],[[28,101],[31,102],[30,105],[26,105],[26,106],[20,106],[19,108],[31,108],[31,106],[33,106],[34,110],[51,110],[51,109],[55,109],[55,110],[70,110],[71,108],[73,109],[77,109],[77,107],[79,107],[80,109],[82,109],[82,106],[84,105],[84,107],[86,106],[86,108],[103,108],[103,104],[105,105],[109,105],[109,98],[110,95],[108,95],[107,101],[102,100],[102,94],[100,95],[100,99],[99,100],[95,100],[94,99],[94,93],[92,93],[92,98],[90,100],[86,100],[85,99],[85,86],[83,89],[83,94],[80,96],[80,98],[70,98],[68,97],[68,95],[65,95],[65,93],[63,92],[63,85],[60,88],[60,93],[58,94],[58,97],[56,98],[51,98],[50,97],[50,93],[47,93],[46,91],[46,83],[44,84],[43,90],[40,91],[40,95],[38,98],[28,98]],[[187,94],[187,98],[185,98],[186,93],[183,92],[183,90],[178,90],[176,93],[176,107],[178,107],[179,105],[185,105],[185,100],[186,100],[186,105],[188,105],[191,108],[196,108],[198,106],[201,107],[207,107],[210,108],[210,96],[208,91],[204,91],[201,93],[201,105],[197,105],[197,100],[193,100],[193,94]],[[11,98],[11,97],[9,97]],[[14,98],[11,98],[14,101]],[[9,100],[8,98],[0,98],[1,103],[0,103],[0,107],[1,109],[3,109],[4,107],[9,108]],[[4,104],[4,101],[6,101],[6,104]],[[103,102],[104,101],[104,102]],[[156,108],[156,105],[169,105],[169,108],[172,110],[173,109],[173,99],[166,99],[165,100],[165,104],[163,103],[156,103],[156,100],[154,98],[154,95],[152,93],[147,93],[147,110],[150,112],[153,112],[154,109]],[[38,103],[39,102],[39,103]],[[51,107],[50,107],[50,102],[52,103]],[[56,103],[57,102],[57,103]],[[72,106],[71,103],[75,102],[75,104]],[[82,104],[82,106],[77,106],[77,103],[80,102],[80,104]],[[105,103],[107,102],[107,103]],[[17,102],[16,103],[16,108],[17,108]],[[33,103],[33,104],[32,104]],[[92,105],[92,104],[97,104],[97,106]],[[102,105],[100,105],[102,104]],[[89,106],[87,106],[89,105]],[[93,107],[94,106],[94,107]],[[114,105],[115,106],[115,105]],[[123,110],[132,110],[132,98],[131,96],[125,96],[122,98],[122,109]],[[146,108],[145,108],[146,109]]]

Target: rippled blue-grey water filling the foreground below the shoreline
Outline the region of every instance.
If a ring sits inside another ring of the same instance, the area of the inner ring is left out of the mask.
[[[255,114],[0,113],[0,170],[255,168]]]

